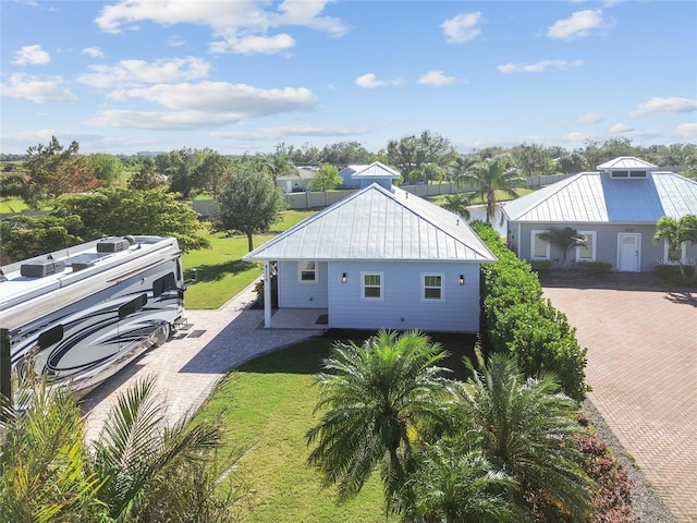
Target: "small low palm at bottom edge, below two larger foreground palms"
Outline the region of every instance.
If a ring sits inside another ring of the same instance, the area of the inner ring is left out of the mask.
[[[426,447],[405,484],[403,513],[412,522],[513,521],[516,484],[478,451],[444,441]]]

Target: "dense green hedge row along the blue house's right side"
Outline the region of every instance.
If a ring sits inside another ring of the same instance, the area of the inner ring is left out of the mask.
[[[564,392],[582,401],[586,397],[586,349],[566,316],[542,297],[542,288],[527,262],[509,250],[488,226],[474,228],[499,258],[482,266],[482,335],[496,351],[517,356],[528,376],[553,373]]]

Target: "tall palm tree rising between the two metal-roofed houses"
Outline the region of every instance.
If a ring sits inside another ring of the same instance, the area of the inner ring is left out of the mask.
[[[496,215],[497,191],[516,198],[515,188],[522,186],[525,179],[518,175],[510,155],[500,155],[475,163],[455,182],[458,186],[467,182],[478,186],[476,194],[487,203],[487,223],[490,223]]]

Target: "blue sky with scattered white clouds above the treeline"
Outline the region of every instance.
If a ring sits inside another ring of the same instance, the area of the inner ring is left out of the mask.
[[[0,3],[0,151],[697,142],[695,1]]]

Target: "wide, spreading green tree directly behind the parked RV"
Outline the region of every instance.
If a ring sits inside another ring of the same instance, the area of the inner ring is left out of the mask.
[[[176,238],[183,251],[209,246],[208,240],[199,234],[198,214],[178,202],[175,195],[159,190],[109,187],[65,196],[56,202],[51,216],[78,216],[81,224],[74,233],[83,241],[110,235],[151,234]]]

